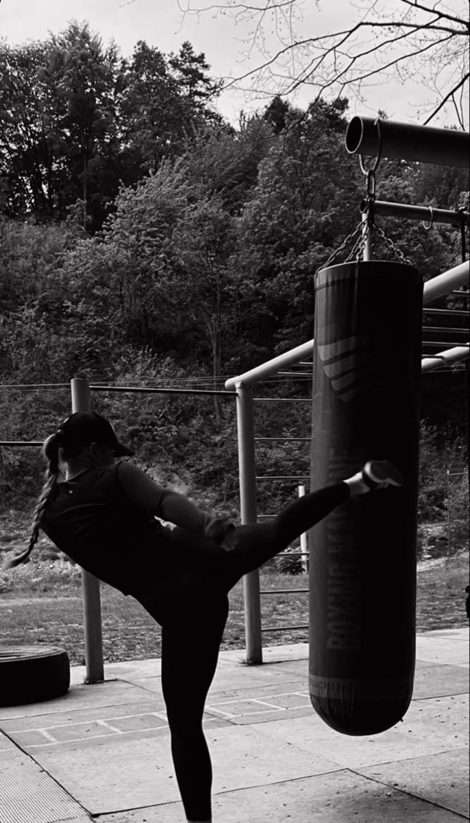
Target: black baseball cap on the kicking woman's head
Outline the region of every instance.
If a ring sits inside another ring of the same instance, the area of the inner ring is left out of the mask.
[[[135,452],[120,443],[111,423],[97,412],[75,412],[58,426],[56,434],[64,449],[97,443],[113,449],[114,457],[131,457]]]

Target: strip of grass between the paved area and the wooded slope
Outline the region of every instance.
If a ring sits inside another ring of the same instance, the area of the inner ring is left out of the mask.
[[[27,565],[0,576],[0,645],[53,644],[67,649],[73,664],[84,663],[80,570],[54,559],[43,546]],[[40,558],[40,559],[39,559]],[[468,552],[422,564],[418,569],[417,630],[468,625],[463,589],[468,585]],[[308,588],[306,574],[261,574],[261,588]],[[159,626],[131,597],[102,587],[104,661],[143,660],[160,656]],[[242,585],[230,593],[231,610],[223,649],[244,649]],[[263,625],[304,625],[308,594],[262,599]],[[306,641],[307,630],[266,633],[266,645]],[[190,637],[188,636],[188,640]],[[241,654],[242,656],[242,654]]]

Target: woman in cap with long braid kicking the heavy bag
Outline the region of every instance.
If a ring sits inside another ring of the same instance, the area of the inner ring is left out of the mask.
[[[391,463],[371,461],[268,523],[235,527],[116,460],[133,452],[94,412],[68,417],[43,453],[46,479],[30,544],[7,566],[26,560],[42,528],[82,568],[136,597],[162,626],[162,689],[177,782],[187,821],[210,823],[212,770],[202,718],[229,590],[350,497],[401,486],[403,478]]]

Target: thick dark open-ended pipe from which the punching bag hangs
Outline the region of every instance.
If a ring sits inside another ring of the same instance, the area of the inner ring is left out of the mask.
[[[468,132],[450,128],[353,117],[344,142],[349,154],[380,155],[468,169]]]

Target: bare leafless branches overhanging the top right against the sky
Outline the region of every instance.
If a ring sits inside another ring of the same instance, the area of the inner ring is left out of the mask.
[[[304,15],[311,26],[321,25],[321,16],[314,18],[302,0],[222,0],[204,8],[187,0],[180,8],[183,17],[211,11],[247,27],[247,53],[258,54],[256,65],[229,79],[225,89],[290,95],[305,85],[314,100],[345,91],[362,98],[373,82],[414,79],[430,95],[422,105],[422,123],[452,113],[463,128],[469,77],[464,0],[360,0],[352,24],[325,34],[306,30]],[[317,12],[320,8],[317,2]]]

